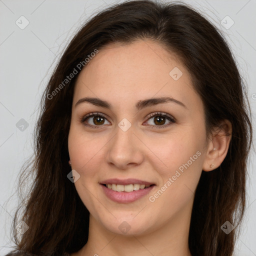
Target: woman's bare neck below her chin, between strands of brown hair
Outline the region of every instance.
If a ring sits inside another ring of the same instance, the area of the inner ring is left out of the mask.
[[[156,230],[140,235],[112,233],[90,215],[88,241],[72,256],[191,256],[188,248],[191,209],[192,205],[186,205]]]

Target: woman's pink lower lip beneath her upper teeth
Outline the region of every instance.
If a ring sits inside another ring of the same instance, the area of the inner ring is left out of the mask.
[[[151,189],[154,187],[154,185],[151,185],[147,188],[139,189],[139,190],[133,190],[131,192],[118,192],[114,191],[110,188],[107,188],[106,186],[100,184],[105,195],[111,199],[112,201],[115,202],[120,202],[120,203],[129,203],[133,202],[142,196],[146,195],[151,191]]]

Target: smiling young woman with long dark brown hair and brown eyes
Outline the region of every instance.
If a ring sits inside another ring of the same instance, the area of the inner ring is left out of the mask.
[[[36,176],[8,255],[232,255],[251,144],[245,103],[227,43],[191,7],[101,11],[45,89]]]

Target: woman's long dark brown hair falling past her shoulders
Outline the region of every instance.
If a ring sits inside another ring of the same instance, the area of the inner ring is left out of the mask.
[[[27,170],[34,175],[28,198],[21,204],[24,210],[18,208],[13,221],[14,251],[20,255],[62,256],[86,243],[89,212],[67,178],[72,95],[81,69],[77,65],[110,42],[137,39],[158,42],[180,57],[203,102],[207,136],[223,119],[232,124],[225,159],[215,170],[201,173],[188,240],[193,256],[232,254],[245,209],[246,164],[252,140],[244,82],[221,32],[196,10],[184,3],[135,0],[108,7],[87,21],[48,81],[35,128],[35,157],[20,176],[21,185]],[[74,68],[78,73],[66,81]],[[21,237],[15,229],[19,219],[29,226]],[[220,228],[225,221],[235,227],[229,234]]]

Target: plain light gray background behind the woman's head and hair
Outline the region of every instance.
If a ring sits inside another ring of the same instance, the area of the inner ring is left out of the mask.
[[[11,250],[10,225],[17,204],[17,177],[21,165],[33,153],[32,132],[38,116],[37,107],[54,66],[52,63],[56,63],[63,47],[88,17],[117,2],[122,1],[0,0],[0,255]],[[256,1],[184,2],[202,11],[224,32],[248,84],[255,132]],[[15,23],[21,15],[29,21],[24,29]],[[228,29],[221,24],[221,20],[231,24],[232,21],[225,18],[227,15],[234,21]],[[23,131],[16,127],[21,118],[29,124]],[[248,166],[247,209],[235,255],[256,255],[255,163],[252,151]]]

